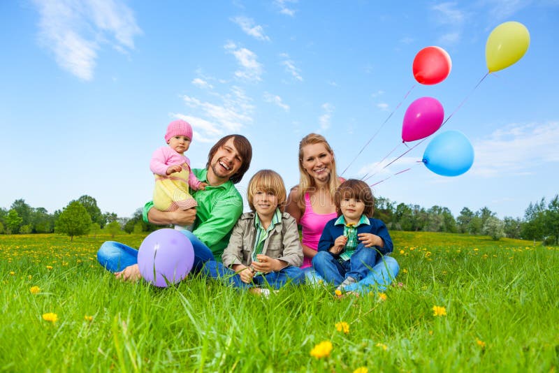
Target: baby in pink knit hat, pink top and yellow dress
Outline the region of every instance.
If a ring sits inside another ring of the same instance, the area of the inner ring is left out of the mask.
[[[165,141],[168,146],[157,149],[150,161],[155,177],[154,207],[160,211],[187,210],[196,207],[189,186],[196,191],[208,185],[198,180],[190,170],[190,160],[184,152],[192,141],[192,127],[184,120],[175,120],[167,126]],[[184,229],[175,226],[175,229]]]

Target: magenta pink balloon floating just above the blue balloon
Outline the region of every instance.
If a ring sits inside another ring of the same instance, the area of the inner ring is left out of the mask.
[[[441,103],[433,97],[421,97],[412,102],[404,115],[402,140],[426,138],[440,129],[444,119]]]

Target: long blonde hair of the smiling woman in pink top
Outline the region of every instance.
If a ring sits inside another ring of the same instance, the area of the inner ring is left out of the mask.
[[[332,167],[331,167],[331,174],[330,180],[328,180],[328,190],[330,191],[330,195],[334,196],[337,187],[340,185],[340,180],[338,180],[337,173],[336,173],[336,161],[335,156],[330,144],[326,141],[324,136],[319,135],[318,133],[309,133],[299,142],[299,186],[298,186],[298,199],[297,205],[300,210],[305,210],[305,193],[308,191],[312,191],[317,188],[317,184],[314,182],[314,178],[310,177],[307,173],[305,168],[303,168],[303,147],[307,145],[314,145],[314,144],[324,144],[326,151],[332,155]]]

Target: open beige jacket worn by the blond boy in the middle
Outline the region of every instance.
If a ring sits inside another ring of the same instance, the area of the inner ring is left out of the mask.
[[[235,264],[250,265],[254,240],[256,240],[254,214],[254,212],[242,214],[233,227],[229,244],[222,255],[226,267]],[[299,242],[297,222],[290,214],[282,213],[282,222],[270,231],[264,241],[262,254],[294,267],[299,267],[303,263],[303,247]]]

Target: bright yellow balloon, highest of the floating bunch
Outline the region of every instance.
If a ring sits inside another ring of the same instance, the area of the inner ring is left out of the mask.
[[[490,73],[507,68],[522,58],[530,45],[530,33],[520,22],[504,22],[495,27],[485,45]]]

